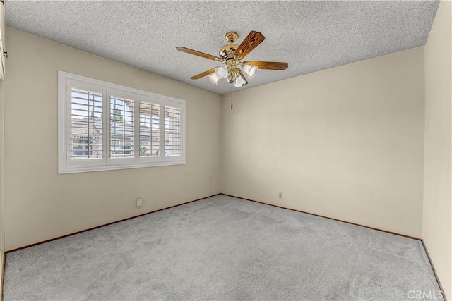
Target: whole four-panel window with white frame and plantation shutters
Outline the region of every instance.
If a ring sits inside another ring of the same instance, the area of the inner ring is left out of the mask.
[[[185,164],[185,102],[59,71],[59,173]]]

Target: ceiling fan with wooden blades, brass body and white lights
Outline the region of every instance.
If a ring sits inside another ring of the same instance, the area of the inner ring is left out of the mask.
[[[289,66],[287,63],[282,62],[242,61],[247,54],[253,51],[253,49],[256,48],[258,44],[261,44],[266,38],[261,32],[251,31],[242,44],[234,44],[238,38],[239,35],[237,32],[226,32],[225,39],[229,44],[220,48],[219,56],[205,54],[186,47],[176,47],[176,49],[186,52],[187,54],[194,54],[195,56],[201,56],[206,59],[220,62],[220,66],[191,77],[192,80],[198,80],[199,78],[209,75],[210,82],[215,85],[217,85],[218,80],[227,78],[227,81],[234,84],[235,87],[242,87],[248,84],[243,72],[251,79],[256,75],[256,70],[258,68],[285,70]]]

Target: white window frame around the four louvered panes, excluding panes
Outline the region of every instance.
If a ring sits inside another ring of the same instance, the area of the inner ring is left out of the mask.
[[[72,87],[102,92],[102,159],[71,159]],[[134,101],[134,156],[131,158],[110,157],[110,97],[112,94]],[[140,156],[140,102],[151,102],[160,106],[159,156]],[[177,107],[181,110],[181,154],[178,156],[165,156],[165,106]],[[185,111],[185,101],[182,99],[136,90],[60,70],[58,71],[58,173],[83,173],[185,164]]]

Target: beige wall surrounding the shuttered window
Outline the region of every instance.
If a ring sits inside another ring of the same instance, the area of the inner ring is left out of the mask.
[[[220,192],[218,95],[13,28],[6,38],[6,250]],[[57,70],[185,99],[186,164],[58,175]]]

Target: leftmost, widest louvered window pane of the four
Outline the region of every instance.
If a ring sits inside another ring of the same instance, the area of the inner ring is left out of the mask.
[[[71,89],[71,159],[102,158],[102,93]]]

